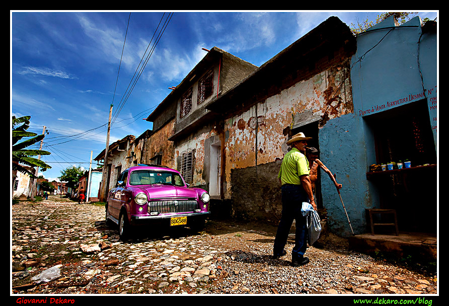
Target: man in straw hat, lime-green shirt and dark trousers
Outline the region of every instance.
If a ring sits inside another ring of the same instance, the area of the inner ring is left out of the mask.
[[[302,203],[309,202],[317,210],[309,178],[309,162],[304,155],[307,140],[311,139],[311,137],[306,137],[304,133],[298,133],[287,141],[287,144],[291,145],[292,148],[284,156],[277,176],[282,185],[282,216],[274,239],[273,258],[276,259],[286,254],[284,247],[287,243],[291,224],[295,220],[295,244],[291,251],[291,265],[293,267],[303,266],[309,262],[309,258],[304,257],[308,232],[306,217],[301,213]]]

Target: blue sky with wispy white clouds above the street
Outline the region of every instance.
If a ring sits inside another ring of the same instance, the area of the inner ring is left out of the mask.
[[[110,144],[152,129],[142,118],[203,58],[201,48],[216,46],[260,66],[330,16],[350,26],[380,13],[169,14],[11,11],[11,113],[31,115],[29,131],[49,132],[43,149],[51,155],[41,159],[52,169],[39,174],[51,181],[72,165],[89,169],[91,150],[95,158],[106,147],[111,103]],[[437,12],[418,16],[433,20]]]

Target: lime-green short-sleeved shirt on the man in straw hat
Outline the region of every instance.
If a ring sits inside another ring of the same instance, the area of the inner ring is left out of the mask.
[[[277,178],[281,179],[282,185],[301,185],[300,176],[309,175],[309,171],[309,161],[306,156],[294,147],[284,156]]]

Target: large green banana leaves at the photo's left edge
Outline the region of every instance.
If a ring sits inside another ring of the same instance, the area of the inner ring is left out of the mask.
[[[24,174],[28,174],[33,179],[36,176],[31,173],[28,169],[26,169],[23,165],[30,167],[39,167],[41,171],[45,171],[50,169],[51,167],[39,159],[33,158],[32,156],[38,155],[50,155],[50,152],[44,150],[34,150],[27,149],[30,145],[35,144],[36,142],[41,141],[45,134],[37,135],[33,132],[28,132],[27,129],[30,127],[30,118],[31,116],[24,116],[20,118],[16,118],[13,116],[13,132],[12,132],[12,143],[13,143],[13,171],[17,170]],[[21,124],[18,127],[15,127],[18,124]],[[26,139],[20,143],[17,143],[23,137],[33,137],[30,139]]]

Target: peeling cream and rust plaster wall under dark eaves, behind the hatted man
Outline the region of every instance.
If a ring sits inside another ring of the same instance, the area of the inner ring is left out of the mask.
[[[273,221],[280,217],[277,174],[288,150],[290,129],[309,123],[311,118],[323,116],[324,124],[352,113],[348,75],[347,60],[224,122],[224,198],[232,198],[235,216]],[[248,193],[251,196],[247,198]]]

